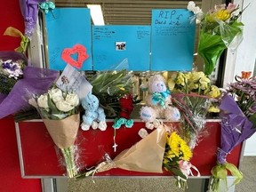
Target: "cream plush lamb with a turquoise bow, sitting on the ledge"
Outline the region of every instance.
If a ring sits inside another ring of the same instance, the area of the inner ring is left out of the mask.
[[[146,122],[147,128],[156,128],[157,119],[164,118],[168,121],[178,121],[180,111],[172,106],[171,92],[166,85],[164,76],[150,76],[147,84],[142,84],[141,88],[148,90],[146,106],[140,109],[140,118]]]

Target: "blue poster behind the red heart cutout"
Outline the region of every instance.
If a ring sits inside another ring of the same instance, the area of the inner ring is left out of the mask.
[[[87,8],[55,8],[45,15],[49,66],[63,70],[67,62],[61,59],[64,49],[81,44],[86,48],[88,59],[84,60],[81,70],[92,70],[91,16]],[[77,60],[77,54],[71,55]]]

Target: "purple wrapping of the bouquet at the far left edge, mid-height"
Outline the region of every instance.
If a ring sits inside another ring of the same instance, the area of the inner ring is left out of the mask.
[[[34,67],[24,68],[23,73],[8,95],[0,94],[0,118],[29,108],[31,94],[46,92],[59,76],[59,71]]]

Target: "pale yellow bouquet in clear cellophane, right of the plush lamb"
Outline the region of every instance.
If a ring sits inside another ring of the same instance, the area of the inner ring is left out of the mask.
[[[188,142],[190,148],[204,138],[206,114],[211,111],[219,112],[214,106],[220,97],[220,89],[211,84],[211,80],[202,71],[178,72],[168,80],[172,91],[172,104],[180,109],[180,134]]]

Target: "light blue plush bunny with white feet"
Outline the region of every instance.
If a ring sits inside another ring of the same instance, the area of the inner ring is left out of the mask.
[[[89,92],[81,103],[85,110],[81,128],[87,131],[92,126],[92,129],[99,128],[101,131],[105,131],[107,129],[106,116],[103,108],[99,107],[98,98]]]

